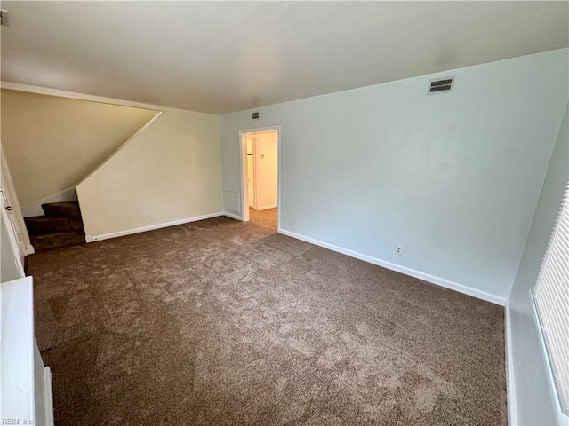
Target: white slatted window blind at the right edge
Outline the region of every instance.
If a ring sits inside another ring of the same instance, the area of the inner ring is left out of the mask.
[[[533,294],[561,410],[569,414],[569,184]]]

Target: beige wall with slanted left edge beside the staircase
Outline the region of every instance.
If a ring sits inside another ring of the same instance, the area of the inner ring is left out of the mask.
[[[220,213],[218,126],[217,115],[164,109],[77,185],[88,238]]]

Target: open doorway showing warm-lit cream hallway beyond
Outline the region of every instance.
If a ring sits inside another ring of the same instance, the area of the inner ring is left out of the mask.
[[[279,128],[241,130],[242,210],[278,209]]]

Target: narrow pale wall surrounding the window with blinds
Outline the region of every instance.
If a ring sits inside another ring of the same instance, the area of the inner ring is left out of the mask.
[[[533,320],[529,291],[535,287],[541,261],[548,247],[565,187],[569,182],[569,105],[559,129],[557,142],[535,209],[516,280],[509,295],[509,348],[517,424],[569,424],[569,417],[557,419],[556,396],[549,394],[549,371]],[[565,418],[565,423],[561,419]]]

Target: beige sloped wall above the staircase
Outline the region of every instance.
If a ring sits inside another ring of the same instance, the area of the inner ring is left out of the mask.
[[[2,142],[22,208],[77,185],[157,111],[2,90]]]

